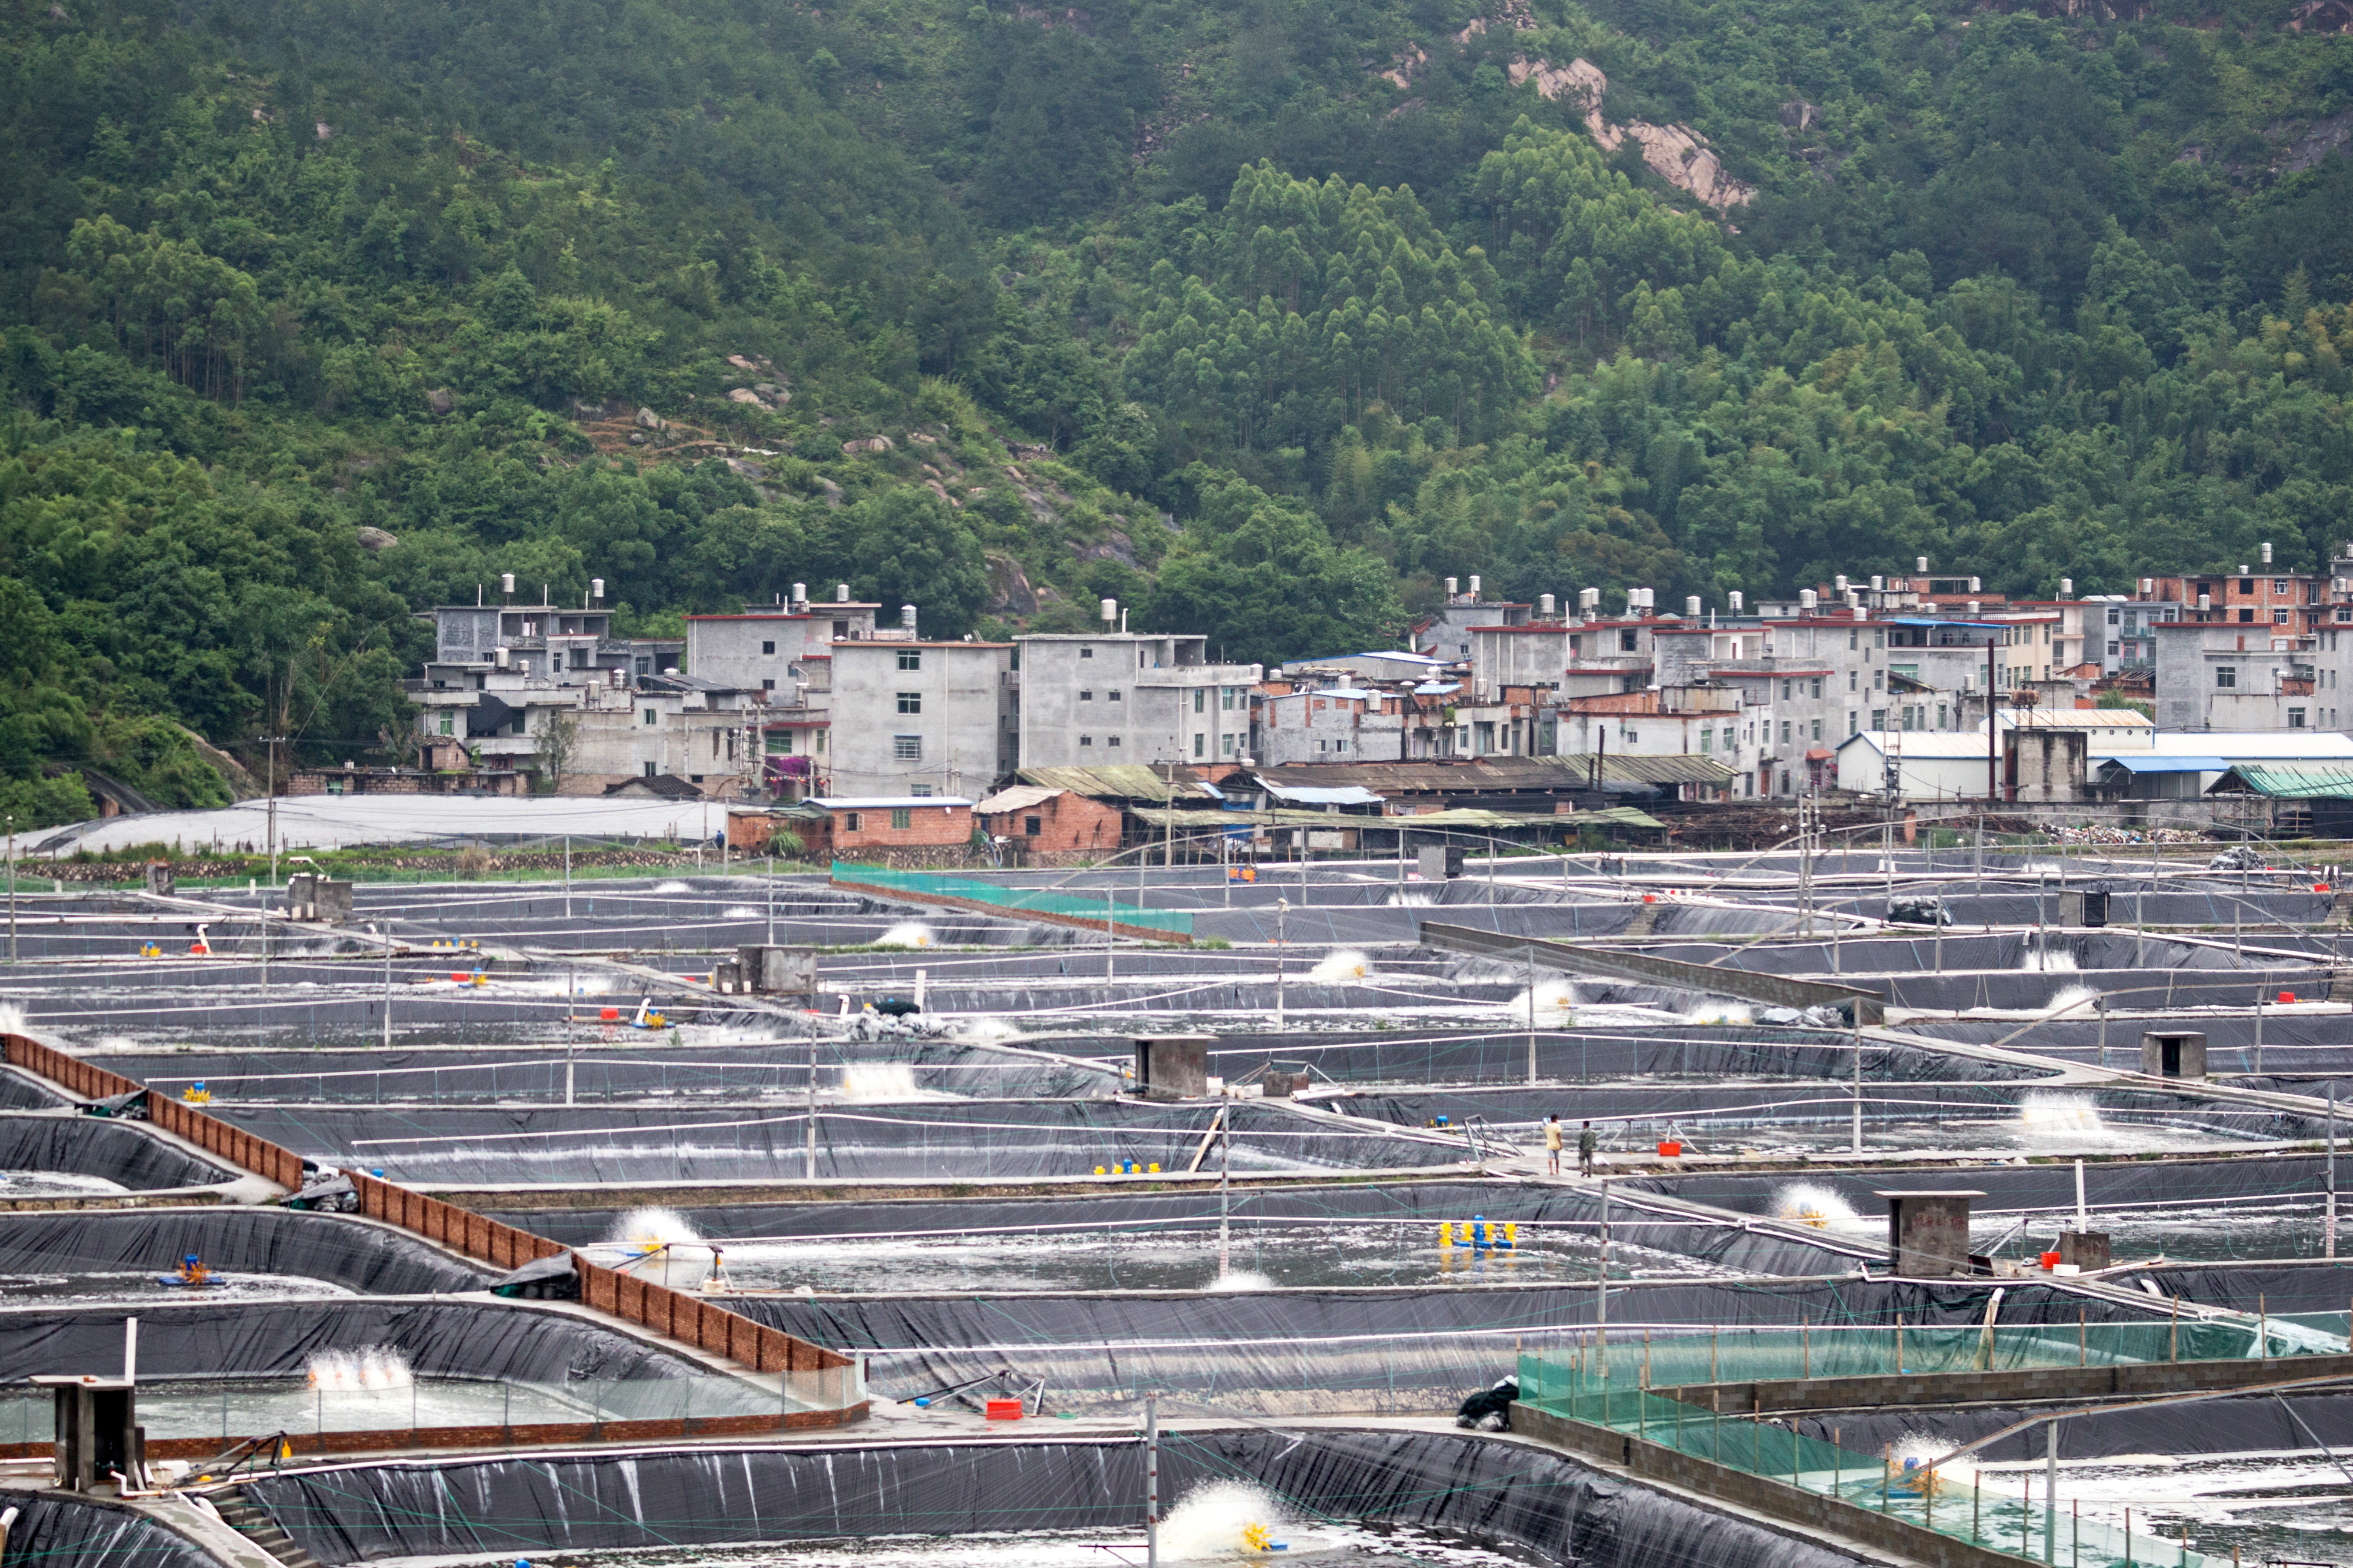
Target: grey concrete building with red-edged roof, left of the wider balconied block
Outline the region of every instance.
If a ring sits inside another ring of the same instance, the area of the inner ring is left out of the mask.
[[[1016,766],[1014,644],[833,644],[833,797],[969,797]]]

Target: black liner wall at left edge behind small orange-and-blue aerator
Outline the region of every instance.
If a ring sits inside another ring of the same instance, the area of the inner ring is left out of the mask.
[[[165,1274],[188,1253],[216,1274],[320,1279],[360,1295],[480,1291],[492,1279],[395,1229],[292,1208],[78,1208],[0,1225],[0,1274]]]

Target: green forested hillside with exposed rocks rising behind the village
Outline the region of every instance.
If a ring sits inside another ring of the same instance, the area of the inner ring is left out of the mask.
[[[1285,658],[2325,559],[2353,7],[2068,9],[7,0],[0,809],[388,757],[501,571]]]

